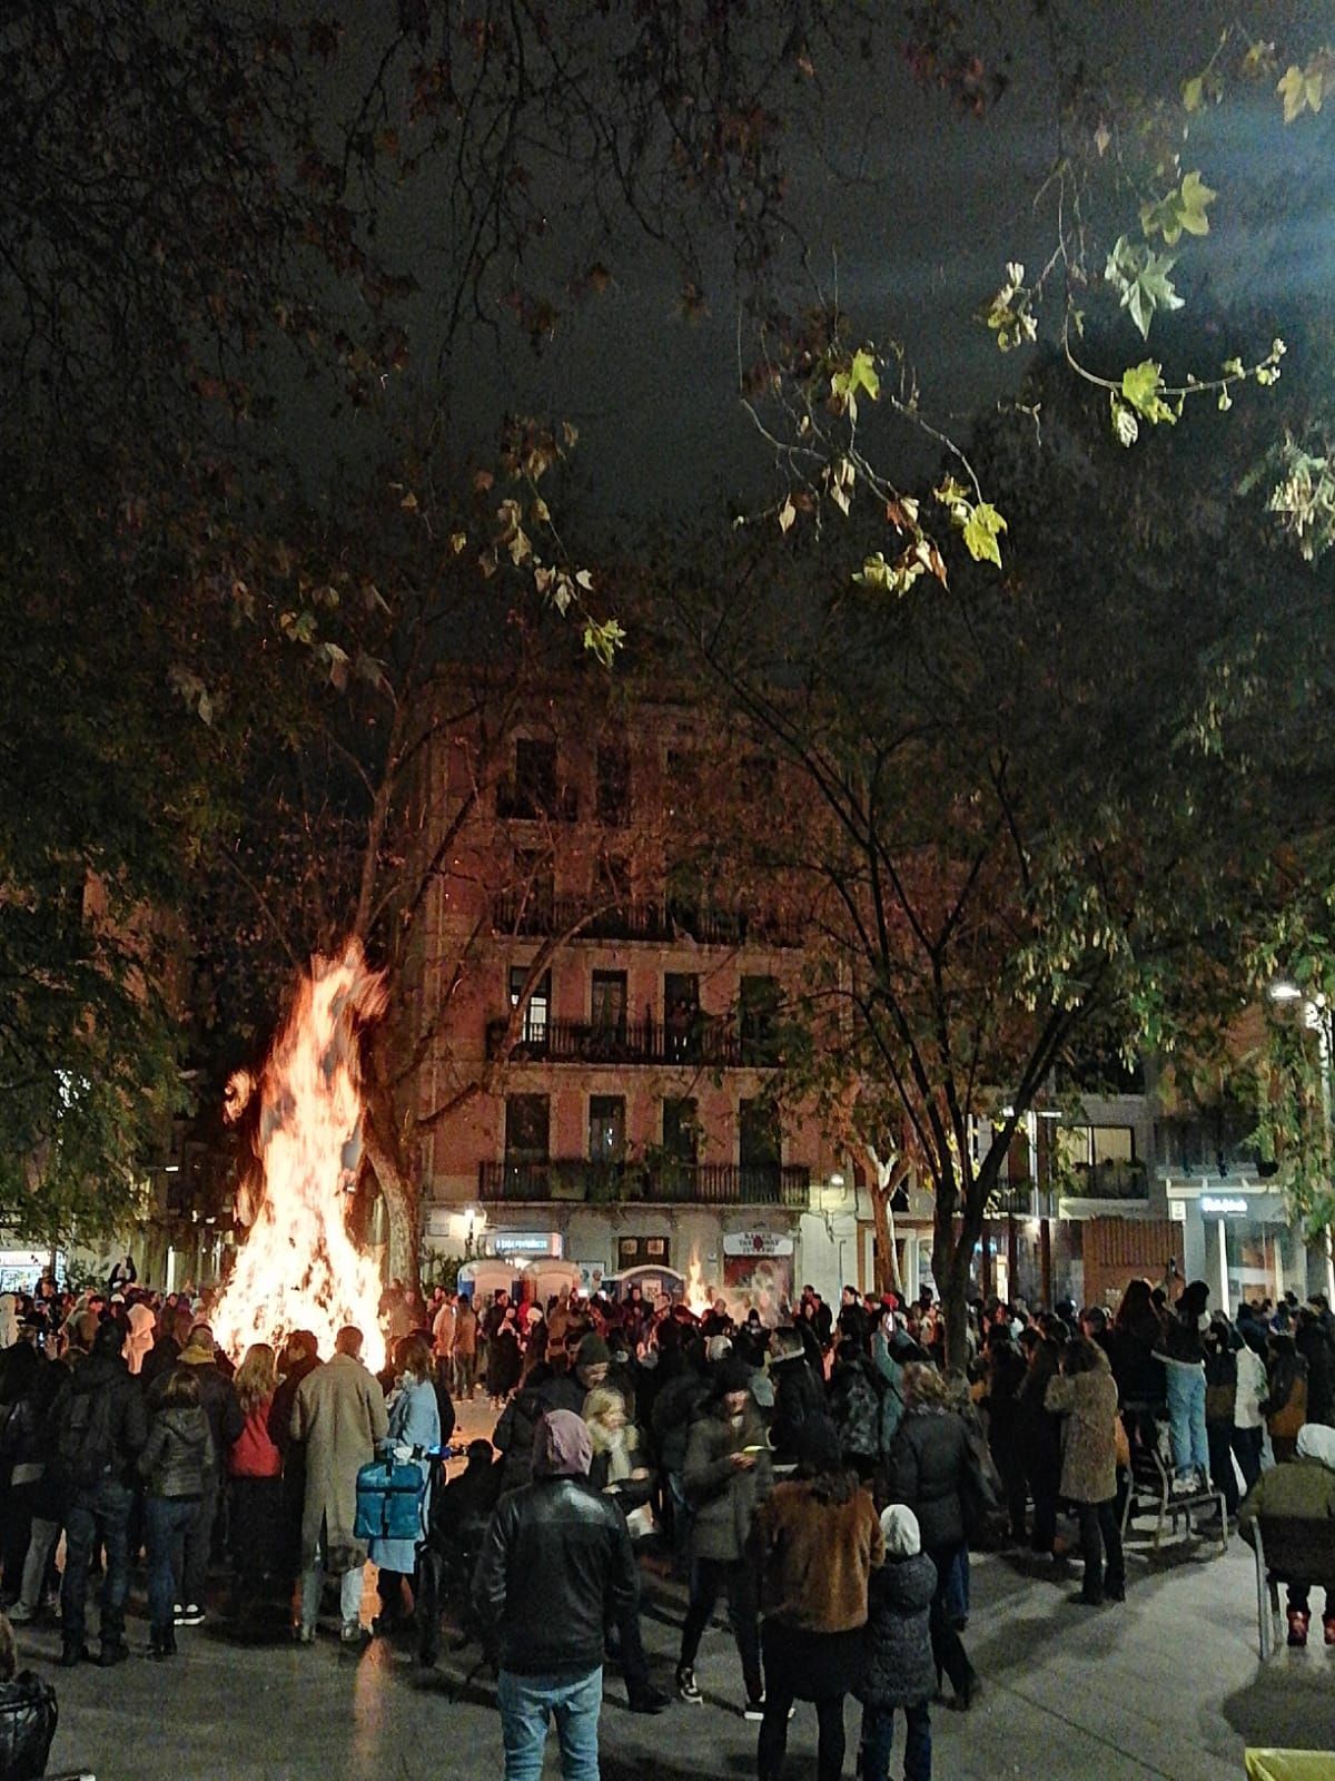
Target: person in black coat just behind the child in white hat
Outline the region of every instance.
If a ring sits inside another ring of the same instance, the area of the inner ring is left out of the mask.
[[[931,1649],[936,1676],[945,1672],[959,1708],[979,1690],[974,1665],[947,1612],[951,1571],[967,1544],[965,1492],[975,1460],[968,1430],[949,1407],[949,1386],[934,1366],[904,1368],[904,1419],[885,1462],[883,1496],[913,1510],[922,1549],[936,1567],[931,1599]]]

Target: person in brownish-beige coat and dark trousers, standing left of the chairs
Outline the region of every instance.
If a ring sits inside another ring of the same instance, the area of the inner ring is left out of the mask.
[[[1084,1585],[1072,1601],[1096,1608],[1127,1599],[1127,1565],[1116,1516],[1118,1448],[1112,1428],[1118,1387],[1104,1350],[1088,1338],[1066,1343],[1061,1373],[1048,1380],[1043,1407],[1063,1418],[1061,1494],[1080,1523]]]

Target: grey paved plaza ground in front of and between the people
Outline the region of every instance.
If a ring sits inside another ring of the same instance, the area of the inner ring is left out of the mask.
[[[481,1407],[468,1418],[475,1423]],[[1251,1551],[1237,1539],[1132,1546],[1125,1606],[1068,1605],[1079,1567],[983,1555],[974,1560],[965,1635],[984,1692],[970,1713],[933,1710],[938,1781],[999,1777],[1164,1776],[1219,1781],[1242,1774],[1248,1744],[1335,1749],[1335,1649],[1317,1642],[1260,1667]],[[374,1590],[367,1590],[370,1617]],[[680,1587],[646,1576],[644,1637],[668,1687],[682,1621]],[[1319,1608],[1319,1598],[1314,1608]],[[333,1621],[329,1622],[333,1626]],[[132,1598],[132,1662],[116,1671],[61,1671],[55,1628],[21,1628],[27,1663],[59,1690],[52,1769],[100,1781],[441,1781],[500,1774],[500,1726],[486,1678],[468,1681],[475,1651],[445,1653],[420,1674],[411,1651],[381,1640],[344,1653],[239,1646],[226,1622],[182,1630],[180,1656],[142,1658],[148,1626]],[[698,1674],[703,1706],[673,1703],[657,1719],[625,1708],[607,1674],[602,1720],[605,1781],[696,1781],[755,1774],[756,1728],[740,1717],[735,1647],[710,1630]],[[853,1774],[858,1708],[849,1703]],[[902,1736],[902,1720],[901,1720]],[[815,1772],[815,1715],[799,1706],[789,1774]],[[899,1774],[901,1751],[892,1774]],[[557,1774],[548,1754],[548,1774]]]

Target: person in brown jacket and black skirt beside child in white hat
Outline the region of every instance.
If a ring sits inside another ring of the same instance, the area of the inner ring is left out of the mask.
[[[867,1583],[885,1558],[870,1491],[844,1466],[828,1416],[797,1435],[797,1476],[756,1510],[765,1697],[760,1781],[778,1781],[794,1701],[815,1704],[817,1781],[844,1772],[844,1696],[862,1678]]]

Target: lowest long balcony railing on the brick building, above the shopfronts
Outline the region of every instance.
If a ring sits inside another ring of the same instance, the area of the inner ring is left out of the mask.
[[[812,1170],[805,1163],[479,1163],[481,1200],[648,1202],[659,1206],[783,1206],[805,1213],[812,1204]]]

